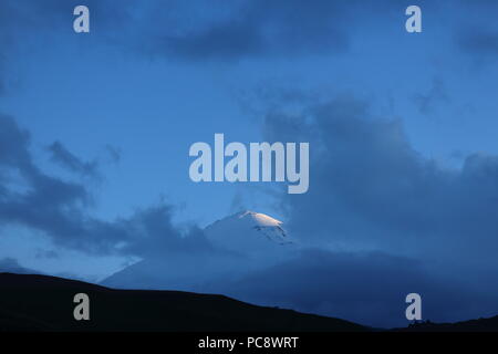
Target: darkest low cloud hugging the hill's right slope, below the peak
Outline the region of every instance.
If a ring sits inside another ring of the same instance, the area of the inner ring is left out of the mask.
[[[415,260],[380,252],[308,250],[294,260],[218,287],[251,303],[384,327],[406,326],[409,293],[421,294],[425,320],[456,321],[498,311],[491,295],[471,294],[463,283],[430,275]]]

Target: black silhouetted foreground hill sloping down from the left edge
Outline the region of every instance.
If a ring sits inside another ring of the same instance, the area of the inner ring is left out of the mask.
[[[76,293],[90,321],[75,321]],[[222,295],[113,290],[68,279],[0,273],[0,331],[367,331],[332,317],[256,306]]]

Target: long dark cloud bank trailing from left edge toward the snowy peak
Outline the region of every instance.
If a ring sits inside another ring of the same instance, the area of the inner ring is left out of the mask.
[[[44,174],[34,164],[29,145],[29,133],[13,118],[0,116],[1,225],[27,226],[44,232],[59,246],[90,253],[146,257],[209,249],[200,230],[173,227],[174,208],[165,204],[113,221],[91,217],[87,188]]]

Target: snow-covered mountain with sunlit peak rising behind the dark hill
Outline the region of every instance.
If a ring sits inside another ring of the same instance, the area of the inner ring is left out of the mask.
[[[209,284],[211,291],[214,283],[276,264],[295,251],[295,242],[283,229],[282,221],[255,211],[241,211],[218,220],[206,227],[204,233],[211,249],[191,254],[165,252],[163,257],[147,258],[112,274],[102,284],[200,292],[207,291]]]

